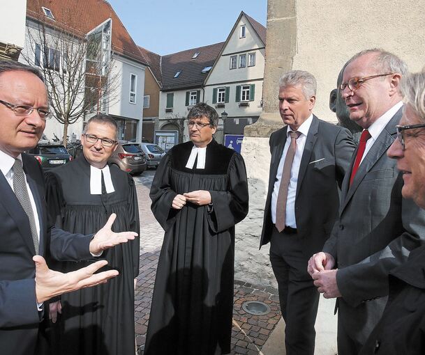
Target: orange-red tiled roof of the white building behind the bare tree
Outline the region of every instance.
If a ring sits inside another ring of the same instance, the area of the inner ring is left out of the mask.
[[[52,11],[54,20],[45,16],[42,6]],[[147,64],[114,9],[105,0],[27,0],[27,17],[36,21],[43,19],[49,26],[68,26],[79,36],[112,18],[112,51]]]

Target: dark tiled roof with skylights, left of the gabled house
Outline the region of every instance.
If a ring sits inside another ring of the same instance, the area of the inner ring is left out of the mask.
[[[224,42],[220,42],[163,56],[161,61],[162,89],[173,90],[202,86],[208,75],[208,72],[202,73],[202,69],[214,65],[223,45]],[[193,54],[196,52],[199,52],[199,55],[193,59]],[[181,74],[174,79],[174,75],[178,71],[181,71]]]

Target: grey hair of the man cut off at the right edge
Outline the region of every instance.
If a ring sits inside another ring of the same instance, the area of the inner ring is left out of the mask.
[[[405,103],[425,123],[425,68],[401,79],[400,90]]]

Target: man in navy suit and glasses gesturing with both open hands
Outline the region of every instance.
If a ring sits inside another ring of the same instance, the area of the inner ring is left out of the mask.
[[[49,116],[47,90],[38,70],[0,61],[0,353],[42,354],[43,302],[103,283],[115,270],[94,274],[98,261],[68,274],[50,270],[43,255],[59,260],[94,258],[134,239],[114,233],[112,216],[96,235],[74,235],[47,221],[40,164],[25,150],[36,145]],[[71,346],[71,345],[70,345]]]

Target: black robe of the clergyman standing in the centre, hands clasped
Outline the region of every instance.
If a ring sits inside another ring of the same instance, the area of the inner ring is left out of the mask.
[[[146,355],[228,354],[232,331],[234,225],[248,213],[244,159],[211,141],[204,169],[186,168],[193,143],[174,146],[156,171],[151,209],[165,230],[147,331]],[[212,205],[177,194],[207,190]]]

